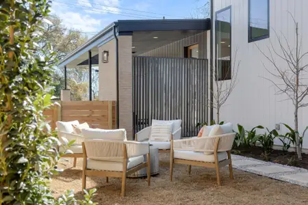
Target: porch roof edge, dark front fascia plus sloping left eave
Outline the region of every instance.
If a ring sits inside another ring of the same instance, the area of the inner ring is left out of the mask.
[[[92,57],[98,54],[98,47],[117,36],[132,36],[134,31],[207,31],[211,20],[205,19],[160,19],[160,20],[118,20],[97,33],[75,51],[69,53],[58,63],[59,67],[75,67],[88,59],[88,51]]]

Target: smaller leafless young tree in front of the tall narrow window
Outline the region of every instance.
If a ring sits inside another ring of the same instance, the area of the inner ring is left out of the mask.
[[[224,103],[227,102],[229,96],[235,88],[236,83],[238,82],[238,68],[240,67],[240,61],[237,62],[237,55],[238,49],[235,51],[233,66],[231,66],[231,63],[224,64],[225,66],[227,65],[225,72],[221,72],[217,69],[217,65],[222,65],[221,59],[216,59],[214,64],[213,77],[215,86],[214,90],[211,91],[213,94],[213,102],[209,102],[209,105],[216,109],[216,120],[218,123],[220,120],[220,109]]]

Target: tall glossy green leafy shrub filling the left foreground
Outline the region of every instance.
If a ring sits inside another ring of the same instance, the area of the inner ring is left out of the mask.
[[[47,186],[60,157],[54,145],[61,146],[43,116],[53,90],[47,62],[55,53],[51,46],[40,51],[38,37],[50,5],[0,1],[0,204],[76,204],[55,200]],[[78,203],[93,204],[92,195]]]

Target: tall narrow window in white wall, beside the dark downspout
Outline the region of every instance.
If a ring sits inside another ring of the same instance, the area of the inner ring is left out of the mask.
[[[216,79],[231,79],[231,6],[216,12]]]

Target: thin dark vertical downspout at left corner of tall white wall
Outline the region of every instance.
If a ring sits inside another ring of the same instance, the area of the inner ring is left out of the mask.
[[[210,52],[210,59],[209,59],[209,72],[210,72],[210,74],[209,74],[209,78],[210,78],[210,80],[209,80],[209,90],[210,90],[210,96],[209,96],[209,103],[210,103],[210,105],[209,105],[209,123],[214,119],[214,116],[213,116],[213,100],[214,100],[214,98],[213,98],[213,90],[214,90],[214,86],[213,86],[213,78],[214,78],[214,76],[213,76],[213,72],[214,72],[214,65],[213,65],[213,53],[214,53],[214,49],[213,49],[213,43],[214,43],[214,40],[213,40],[213,36],[214,36],[214,0],[211,0],[211,37],[210,37],[210,44],[211,44],[211,48],[209,49],[209,52]],[[218,122],[219,123],[219,122]]]

